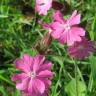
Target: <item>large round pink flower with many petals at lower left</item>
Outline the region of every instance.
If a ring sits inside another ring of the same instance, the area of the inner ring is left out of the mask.
[[[16,88],[33,96],[43,96],[51,85],[52,63],[46,62],[42,55],[31,57],[25,54],[23,58],[18,58],[15,64],[16,68],[21,70],[21,73],[12,77],[16,82]]]

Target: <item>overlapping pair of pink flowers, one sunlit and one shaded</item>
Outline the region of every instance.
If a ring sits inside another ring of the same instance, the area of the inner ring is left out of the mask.
[[[68,19],[64,19],[58,10],[54,12],[52,19],[52,23],[42,23],[42,26],[49,30],[49,34],[54,39],[63,45],[65,43],[68,45],[68,53],[71,57],[85,59],[94,51],[93,42],[85,37],[84,28],[79,27],[81,15],[77,13],[77,10]]]

